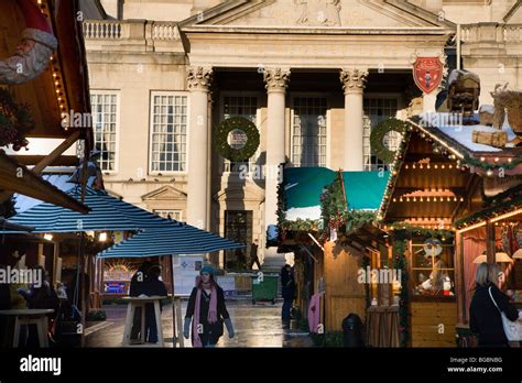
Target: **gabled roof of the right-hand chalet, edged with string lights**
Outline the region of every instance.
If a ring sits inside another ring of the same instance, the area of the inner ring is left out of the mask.
[[[448,123],[449,117],[432,113],[405,121],[409,131],[395,153],[378,221],[449,228],[456,217],[469,211],[471,193],[482,178],[494,180],[490,177],[497,176],[502,166],[507,176],[522,173],[522,164],[518,163],[521,147],[474,143],[475,130],[493,128]],[[502,130],[508,140],[514,138],[509,124],[504,123]]]

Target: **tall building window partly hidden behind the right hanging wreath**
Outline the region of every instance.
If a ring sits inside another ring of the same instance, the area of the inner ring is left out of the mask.
[[[365,98],[363,109],[365,114],[369,118],[369,122],[365,123],[363,132],[363,156],[365,156],[365,171],[379,171],[381,168],[388,171],[390,164],[384,164],[379,160],[371,150],[370,145],[370,134],[371,129],[376,127],[379,122],[390,118],[395,117],[398,110],[398,98],[396,97],[376,97],[376,98]],[[396,132],[390,132],[384,136],[384,145],[387,145],[391,151],[395,151],[401,143],[401,135]]]

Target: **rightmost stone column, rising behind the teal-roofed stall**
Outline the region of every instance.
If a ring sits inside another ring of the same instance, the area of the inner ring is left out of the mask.
[[[345,90],[345,171],[363,171],[362,133],[363,114],[362,90],[368,72],[362,69],[342,69],[340,81]]]

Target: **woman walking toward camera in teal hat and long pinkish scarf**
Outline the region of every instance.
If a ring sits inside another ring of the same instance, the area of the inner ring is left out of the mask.
[[[215,347],[222,336],[222,325],[227,326],[228,337],[233,338],[233,327],[230,315],[225,306],[222,288],[214,281],[214,269],[209,265],[202,267],[199,280],[193,288],[185,315],[183,335],[186,339],[191,332],[194,347]]]

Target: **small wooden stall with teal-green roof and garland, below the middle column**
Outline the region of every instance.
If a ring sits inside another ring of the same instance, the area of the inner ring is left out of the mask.
[[[294,253],[296,304],[304,318],[312,296],[318,294],[319,324],[325,332],[341,331],[342,319],[349,314],[366,318],[370,285],[358,280],[359,271],[369,264],[369,255],[382,239],[369,231],[367,237],[350,234],[365,232],[362,227],[374,219],[370,210],[379,206],[387,177],[387,172],[284,171],[280,251]]]

